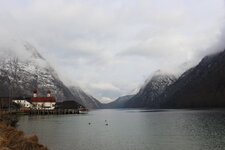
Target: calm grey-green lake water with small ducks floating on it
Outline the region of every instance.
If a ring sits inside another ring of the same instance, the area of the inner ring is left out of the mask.
[[[225,110],[124,109],[22,116],[18,128],[37,134],[50,150],[225,149]]]

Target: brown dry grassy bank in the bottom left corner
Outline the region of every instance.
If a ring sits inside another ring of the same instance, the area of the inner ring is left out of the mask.
[[[36,135],[28,137],[17,130],[17,121],[15,116],[0,112],[0,150],[48,150],[39,144]]]

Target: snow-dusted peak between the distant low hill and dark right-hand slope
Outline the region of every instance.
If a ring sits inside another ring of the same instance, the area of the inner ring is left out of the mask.
[[[162,73],[161,71],[156,72],[151,80],[125,103],[124,107],[155,107],[158,104],[159,96],[175,80],[176,77],[174,75]]]

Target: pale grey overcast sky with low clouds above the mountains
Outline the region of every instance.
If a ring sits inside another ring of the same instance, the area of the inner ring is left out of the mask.
[[[67,85],[109,102],[158,69],[178,73],[224,49],[224,3],[0,0],[0,40],[32,43]]]

